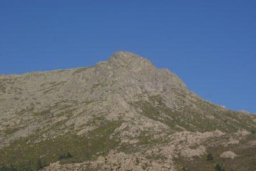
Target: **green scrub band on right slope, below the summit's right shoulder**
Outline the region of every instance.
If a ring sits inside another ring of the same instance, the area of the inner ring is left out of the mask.
[[[182,95],[177,98],[177,103],[184,103]],[[141,114],[166,124],[172,130],[182,131],[182,126],[188,131],[215,131],[234,133],[238,130],[256,130],[256,125],[252,119],[244,114],[232,110],[218,110],[216,105],[203,100],[195,103],[197,108],[180,105],[173,110],[167,107],[161,96],[151,96],[150,101],[138,101],[131,103],[134,107],[142,110]],[[211,119],[209,119],[211,117]],[[204,120],[204,122],[202,122]]]

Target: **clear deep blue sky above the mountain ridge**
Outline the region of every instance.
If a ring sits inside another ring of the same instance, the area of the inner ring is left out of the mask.
[[[0,1],[0,74],[92,66],[127,50],[207,100],[256,112],[256,1]]]

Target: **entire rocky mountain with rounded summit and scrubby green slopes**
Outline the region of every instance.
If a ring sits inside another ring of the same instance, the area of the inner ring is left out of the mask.
[[[255,132],[131,52],[0,75],[0,170],[256,170]]]

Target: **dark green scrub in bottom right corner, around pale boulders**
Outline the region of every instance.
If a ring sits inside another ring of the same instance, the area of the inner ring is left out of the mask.
[[[256,170],[255,165],[255,146],[248,146],[248,142],[256,140],[256,134],[248,135],[243,140],[240,140],[239,144],[228,145],[225,147],[220,145],[221,142],[228,142],[228,137],[212,138],[205,142],[204,145],[207,151],[211,151],[214,160],[207,161],[207,156],[209,153],[201,157],[195,157],[193,160],[186,160],[184,158],[176,158],[175,163],[182,167],[186,167],[188,170]],[[215,144],[215,145],[214,145]],[[237,154],[234,159],[231,158],[221,158],[220,155],[225,151],[233,151]],[[216,165],[220,165],[216,167]],[[215,168],[216,167],[216,168]]]

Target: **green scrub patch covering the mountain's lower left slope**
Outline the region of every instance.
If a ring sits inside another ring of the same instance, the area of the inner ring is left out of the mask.
[[[86,135],[67,133],[35,144],[33,142],[36,140],[36,135],[20,138],[0,150],[0,167],[7,166],[7,169],[12,164],[17,170],[38,170],[58,160],[61,163],[76,163],[95,159],[117,146],[118,140],[109,137],[120,124],[122,123],[104,121],[99,128]]]

